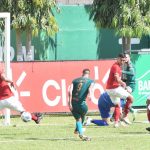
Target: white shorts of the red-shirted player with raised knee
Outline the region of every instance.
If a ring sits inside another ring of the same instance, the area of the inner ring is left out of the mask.
[[[127,99],[130,93],[127,92],[123,87],[119,86],[115,89],[106,89],[108,95],[110,96],[114,104],[120,104],[120,99]]]

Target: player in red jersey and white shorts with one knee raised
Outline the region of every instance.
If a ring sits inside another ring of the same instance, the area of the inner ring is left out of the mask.
[[[110,69],[110,74],[106,85],[106,91],[109,94],[112,102],[115,104],[115,127],[119,126],[118,122],[120,118],[120,99],[123,98],[127,100],[122,118],[126,123],[129,123],[127,115],[129,113],[129,108],[133,102],[133,96],[125,90],[126,83],[121,80],[121,66],[125,63],[125,61],[125,55],[119,54],[117,57],[117,61],[112,65]]]

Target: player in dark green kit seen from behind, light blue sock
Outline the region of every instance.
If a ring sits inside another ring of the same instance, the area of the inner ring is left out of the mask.
[[[76,120],[75,132],[79,133],[79,137],[83,141],[90,141],[91,139],[83,135],[82,124],[85,120],[85,115],[88,111],[86,98],[91,99],[92,88],[94,81],[89,78],[90,70],[84,69],[82,77],[76,78],[72,81],[69,90],[69,109]],[[89,95],[88,95],[89,94]]]

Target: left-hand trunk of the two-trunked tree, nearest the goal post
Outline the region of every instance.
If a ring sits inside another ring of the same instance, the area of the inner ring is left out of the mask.
[[[23,61],[21,30],[16,29],[16,48],[17,48],[17,61]]]

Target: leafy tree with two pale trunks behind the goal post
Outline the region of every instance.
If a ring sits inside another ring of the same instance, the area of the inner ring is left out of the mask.
[[[31,53],[32,36],[37,36],[42,30],[48,36],[58,31],[58,25],[52,9],[55,0],[1,0],[1,11],[11,12],[12,28],[16,30],[16,48],[18,60],[23,60],[21,34],[26,32],[27,56]],[[30,59],[30,58],[29,58]]]

